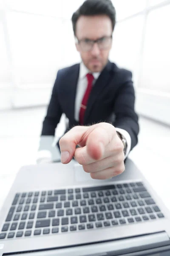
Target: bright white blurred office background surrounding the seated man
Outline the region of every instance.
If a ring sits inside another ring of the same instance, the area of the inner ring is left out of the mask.
[[[20,166],[36,162],[57,70],[80,61],[71,16],[82,3],[0,0],[1,187]],[[130,157],[148,178],[156,168],[156,177],[169,175],[170,0],[113,0],[113,5],[117,23],[110,60],[133,72],[141,126]],[[63,126],[64,116],[58,137]],[[165,182],[169,178],[164,176]]]

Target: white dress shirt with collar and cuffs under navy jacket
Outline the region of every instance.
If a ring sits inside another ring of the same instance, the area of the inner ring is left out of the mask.
[[[83,62],[81,62],[80,70],[79,70],[79,79],[78,79],[78,84],[77,84],[77,93],[76,93],[76,98],[75,98],[75,109],[74,109],[74,118],[75,118],[75,120],[77,120],[77,122],[79,122],[80,105],[82,103],[83,96],[84,96],[85,91],[88,86],[88,80],[86,77],[86,75],[88,73],[91,73],[91,72],[87,69],[87,67],[85,67]],[[92,73],[92,74],[94,76],[94,83],[95,83],[95,81],[98,79],[100,73],[97,72],[97,73]],[[125,137],[125,139],[126,139],[126,143],[127,143],[126,154],[125,154],[125,158],[126,158],[127,155],[129,154],[130,148],[131,148],[130,135],[127,131],[125,131],[124,129],[121,129],[121,128],[116,128],[116,131],[118,131],[120,134],[122,134],[122,136]],[[48,152],[48,154],[49,154],[49,152]],[[38,162],[38,159],[44,159],[44,157],[45,157],[46,162],[50,162],[50,158],[49,158],[48,154],[46,152],[44,152],[44,151],[42,152],[42,150],[40,150],[37,155],[37,162]],[[49,159],[46,159],[46,158],[49,158]]]

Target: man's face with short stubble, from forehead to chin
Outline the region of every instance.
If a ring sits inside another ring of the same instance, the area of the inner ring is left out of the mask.
[[[111,37],[112,35],[111,19],[106,15],[97,16],[80,16],[76,25],[76,37],[78,41],[97,40],[99,38]],[[108,63],[108,56],[111,49],[112,41],[105,49],[100,49],[95,43],[91,50],[85,51],[81,44],[77,43],[77,50],[85,66],[91,72],[101,72]]]

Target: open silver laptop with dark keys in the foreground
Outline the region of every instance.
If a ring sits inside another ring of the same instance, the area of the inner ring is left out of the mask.
[[[23,166],[0,212],[0,256],[170,256],[170,212],[125,165],[108,180],[75,160]]]

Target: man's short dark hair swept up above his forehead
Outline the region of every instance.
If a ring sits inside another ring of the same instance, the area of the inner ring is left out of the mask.
[[[77,20],[81,15],[107,15],[111,19],[113,29],[116,23],[116,11],[111,0],[86,0],[72,16],[74,35],[76,35]]]

